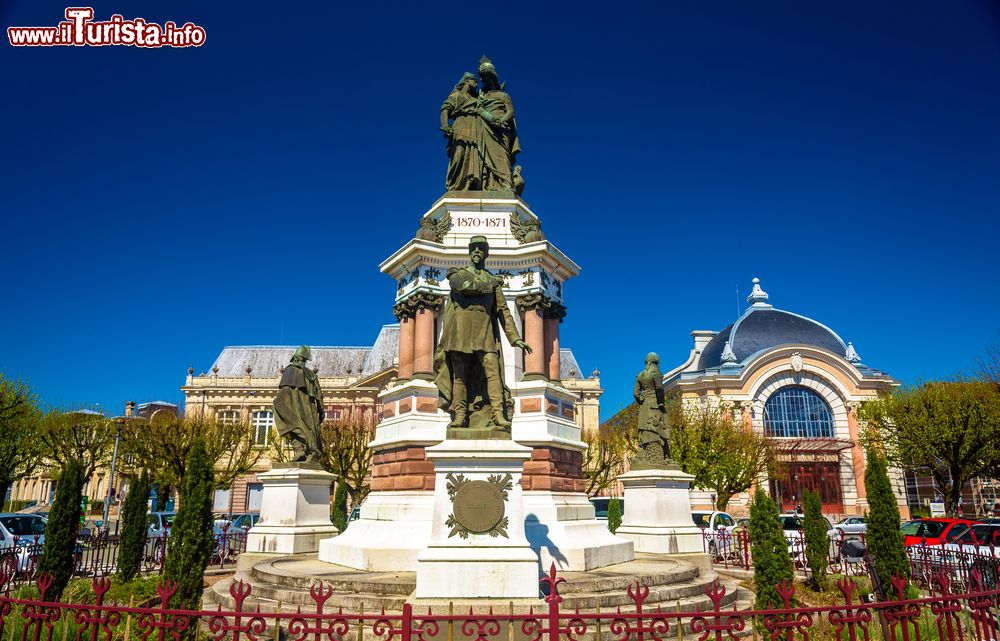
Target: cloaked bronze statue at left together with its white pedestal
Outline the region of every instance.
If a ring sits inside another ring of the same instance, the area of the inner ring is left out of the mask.
[[[260,520],[247,533],[247,552],[315,552],[320,541],[337,534],[330,522],[330,485],[337,477],[319,462],[323,392],[316,373],[306,367],[311,358],[303,345],[281,375],[274,424],[291,445],[293,459],[257,476],[264,486]]]

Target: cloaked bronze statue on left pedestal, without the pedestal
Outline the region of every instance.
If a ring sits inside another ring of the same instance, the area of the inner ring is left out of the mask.
[[[310,360],[309,347],[295,350],[274,399],[274,426],[292,446],[295,463],[319,463],[322,457],[323,392],[316,372],[306,367]]]

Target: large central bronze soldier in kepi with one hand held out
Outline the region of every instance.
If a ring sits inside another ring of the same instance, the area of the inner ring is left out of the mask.
[[[438,405],[452,415],[449,428],[509,430],[513,401],[503,380],[501,332],[511,346],[532,352],[518,335],[502,281],[486,269],[489,253],[486,238],[473,236],[470,264],[447,273],[451,297],[442,314],[435,383]]]

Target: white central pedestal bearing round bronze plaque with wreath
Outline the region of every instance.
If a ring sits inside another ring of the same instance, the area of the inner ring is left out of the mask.
[[[434,463],[434,512],[417,556],[418,599],[537,598],[539,563],[524,535],[521,470],[531,448],[446,440]]]

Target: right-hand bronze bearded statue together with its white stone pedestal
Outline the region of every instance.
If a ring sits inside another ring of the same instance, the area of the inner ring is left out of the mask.
[[[625,514],[615,534],[633,541],[636,552],[701,553],[702,532],[691,520],[694,477],[670,458],[663,374],[656,353],[646,356],[633,396],[639,405],[639,448],[632,469],[618,477],[625,488]]]

